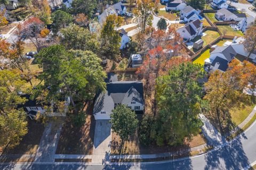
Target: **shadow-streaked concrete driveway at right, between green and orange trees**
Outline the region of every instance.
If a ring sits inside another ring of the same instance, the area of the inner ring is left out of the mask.
[[[203,121],[202,132],[205,138],[209,141],[210,145],[218,146],[226,142],[220,132],[211,124],[211,122],[203,115],[199,114],[200,119]]]

